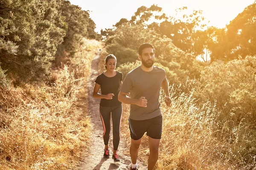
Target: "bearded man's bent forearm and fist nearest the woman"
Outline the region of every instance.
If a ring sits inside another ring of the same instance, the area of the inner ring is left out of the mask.
[[[128,97],[127,93],[124,93],[122,91],[119,91],[118,94],[118,100],[120,102],[126,103],[126,104],[130,104],[130,105],[138,105],[141,107],[146,108],[147,107],[147,99],[145,99],[145,97],[140,97],[140,99],[132,99],[130,97]]]

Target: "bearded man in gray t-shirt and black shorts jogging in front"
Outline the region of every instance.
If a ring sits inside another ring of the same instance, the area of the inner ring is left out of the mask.
[[[148,170],[153,170],[158,159],[163,117],[159,95],[162,86],[166,105],[171,104],[166,72],[154,66],[155,50],[150,43],[139,47],[141,65],[130,71],[122,84],[118,100],[130,104],[129,128],[131,135],[131,170],[138,170],[137,156],[142,137],[146,132],[149,142]],[[131,97],[128,97],[128,93]]]

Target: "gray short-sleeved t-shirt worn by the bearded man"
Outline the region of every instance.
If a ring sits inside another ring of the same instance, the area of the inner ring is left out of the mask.
[[[159,93],[165,77],[165,70],[156,66],[148,72],[139,66],[126,75],[121,91],[130,92],[132,99],[140,99],[143,96],[148,101],[146,108],[131,105],[130,119],[146,120],[161,115]]]

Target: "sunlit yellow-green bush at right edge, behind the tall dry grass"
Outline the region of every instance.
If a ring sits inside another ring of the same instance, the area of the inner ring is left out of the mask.
[[[201,73],[198,98],[216,101],[224,117],[234,114],[239,124],[245,115],[256,123],[256,57],[235,59],[227,64],[214,62]],[[249,114],[247,114],[249,113]]]

